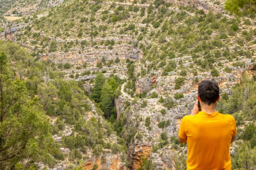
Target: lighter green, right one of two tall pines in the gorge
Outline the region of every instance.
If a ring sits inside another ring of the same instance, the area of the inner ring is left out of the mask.
[[[105,117],[108,119],[110,118],[111,114],[113,113],[114,109],[114,91],[111,87],[111,85],[106,82],[102,86],[102,94],[101,94],[101,109],[105,113]]]

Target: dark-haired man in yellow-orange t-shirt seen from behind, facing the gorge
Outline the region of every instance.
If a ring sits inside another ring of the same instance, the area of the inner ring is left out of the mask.
[[[182,118],[178,141],[187,142],[187,170],[231,170],[229,147],[236,135],[233,116],[216,111],[218,83],[204,80],[198,86],[198,101],[191,115]]]

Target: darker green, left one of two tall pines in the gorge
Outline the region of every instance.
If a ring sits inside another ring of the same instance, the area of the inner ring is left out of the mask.
[[[101,101],[101,91],[105,81],[106,81],[105,76],[100,72],[97,73],[95,78],[95,85],[94,85],[94,88],[92,89],[92,96],[91,96],[96,102]]]

